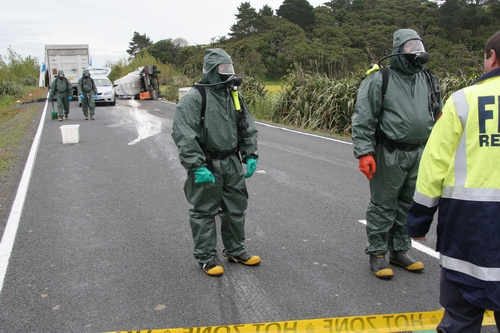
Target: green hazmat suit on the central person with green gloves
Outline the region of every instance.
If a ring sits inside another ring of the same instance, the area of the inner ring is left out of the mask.
[[[199,83],[222,82],[217,66],[228,63],[233,62],[225,51],[207,49]],[[206,110],[202,121],[202,95],[197,88],[191,88],[177,104],[172,125],[172,138],[188,173],[184,193],[193,205],[189,222],[193,254],[200,264],[217,256],[216,215],[221,219],[223,254],[239,256],[247,251],[248,192],[241,161],[246,163],[247,158],[258,158],[257,129],[244,100],[240,99],[241,107],[246,110],[248,128],[239,130],[241,113],[236,111],[230,90],[227,83],[205,87]],[[207,167],[213,173],[215,183],[195,183],[194,171],[200,167]]]

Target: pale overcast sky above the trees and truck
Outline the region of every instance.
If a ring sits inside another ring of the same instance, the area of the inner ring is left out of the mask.
[[[183,38],[190,45],[226,36],[240,0],[8,0],[0,7],[0,55],[7,49],[44,61],[46,44],[88,44],[93,66],[127,58],[134,31],[153,42]],[[283,0],[249,0],[257,11]],[[309,0],[317,7],[326,0]]]

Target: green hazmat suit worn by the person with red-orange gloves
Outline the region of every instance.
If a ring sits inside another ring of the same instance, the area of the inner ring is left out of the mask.
[[[415,39],[421,40],[415,31],[397,30],[393,54],[403,52],[403,45]],[[405,55],[395,55],[390,57],[389,68],[385,97],[381,72],[369,75],[359,87],[352,118],[354,156],[359,159],[371,154],[376,163],[366,212],[368,255],[411,248],[406,232],[407,211],[415,193],[420,157],[434,125],[423,65],[414,65]],[[441,95],[437,98],[441,109]],[[387,148],[389,142],[398,148]]]

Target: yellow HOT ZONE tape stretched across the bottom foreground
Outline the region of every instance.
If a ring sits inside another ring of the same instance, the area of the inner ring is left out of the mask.
[[[443,310],[379,314],[373,316],[291,320],[258,324],[163,328],[109,333],[373,333],[435,330]],[[484,325],[495,325],[492,311],[486,311]]]

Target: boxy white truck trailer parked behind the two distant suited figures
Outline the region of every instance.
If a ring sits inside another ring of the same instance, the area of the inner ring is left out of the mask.
[[[88,44],[45,45],[45,70],[40,71],[39,86],[50,87],[57,71],[62,69],[73,85],[73,95],[77,95],[78,80],[89,60]]]

